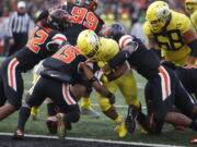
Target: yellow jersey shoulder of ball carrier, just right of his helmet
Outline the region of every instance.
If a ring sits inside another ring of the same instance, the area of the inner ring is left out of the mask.
[[[119,46],[114,39],[100,37],[100,42],[101,46],[97,52],[100,61],[108,62],[119,52]]]

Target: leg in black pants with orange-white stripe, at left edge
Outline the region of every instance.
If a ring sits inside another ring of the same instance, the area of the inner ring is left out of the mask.
[[[9,58],[1,64],[4,96],[9,102],[0,107],[0,120],[7,118],[21,107],[23,79],[18,65],[19,61],[15,58]]]

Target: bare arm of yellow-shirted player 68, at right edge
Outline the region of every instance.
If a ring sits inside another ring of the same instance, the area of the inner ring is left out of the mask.
[[[197,35],[196,35],[196,32],[193,28],[188,29],[187,32],[185,32],[183,34],[183,39],[184,39],[185,44],[187,44],[189,46],[189,48],[192,49],[188,63],[194,64],[197,59]]]

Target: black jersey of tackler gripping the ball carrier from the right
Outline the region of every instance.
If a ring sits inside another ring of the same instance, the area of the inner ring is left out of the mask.
[[[132,42],[137,45],[136,49],[130,47]],[[140,39],[125,35],[120,38],[119,46],[123,50],[109,61],[112,68],[127,60],[130,66],[135,68],[137,72],[147,79],[152,79],[158,75],[160,62],[158,58],[144,47]]]

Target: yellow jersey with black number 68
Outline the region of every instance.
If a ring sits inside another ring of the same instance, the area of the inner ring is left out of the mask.
[[[143,32],[149,39],[153,39],[161,48],[161,56],[176,65],[186,64],[190,48],[184,42],[183,34],[190,29],[189,19],[182,13],[171,11],[171,20],[166,28],[160,33],[151,30],[148,22],[143,24]]]

